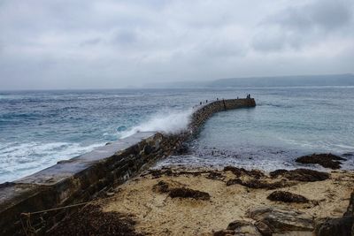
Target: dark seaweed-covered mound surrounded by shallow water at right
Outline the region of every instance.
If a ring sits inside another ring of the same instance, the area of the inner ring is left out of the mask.
[[[346,159],[340,156],[335,156],[331,153],[325,154],[312,154],[310,156],[300,156],[296,158],[296,163],[301,164],[319,164],[325,168],[330,168],[333,170],[341,168],[341,162]]]

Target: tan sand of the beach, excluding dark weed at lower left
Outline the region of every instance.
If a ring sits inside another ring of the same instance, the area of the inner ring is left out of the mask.
[[[319,181],[272,175],[235,167],[224,170],[152,170],[112,188],[106,193],[109,197],[96,205],[105,213],[115,212],[131,217],[135,221],[135,232],[143,235],[233,235],[227,234],[232,231],[226,229],[235,221],[246,225],[241,229],[246,232],[235,235],[262,235],[252,232],[259,218],[251,215],[255,209],[267,208],[301,214],[288,220],[288,223],[274,224],[273,235],[312,235],[311,228],[314,229],[319,219],[342,217],[354,189],[353,171],[331,171],[328,179]],[[235,183],[233,179],[241,179],[241,182]],[[249,185],[251,182],[256,184]],[[177,192],[177,195],[172,195],[176,189],[200,192],[181,195]],[[304,196],[306,201],[267,199],[274,191],[298,194]],[[304,222],[296,222],[299,218],[313,222],[310,229],[306,229]]]

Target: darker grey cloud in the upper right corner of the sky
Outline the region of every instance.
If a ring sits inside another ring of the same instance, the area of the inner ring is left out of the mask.
[[[301,49],[327,41],[327,37],[353,38],[351,1],[317,0],[289,6],[262,20],[252,39],[252,47],[271,52]]]

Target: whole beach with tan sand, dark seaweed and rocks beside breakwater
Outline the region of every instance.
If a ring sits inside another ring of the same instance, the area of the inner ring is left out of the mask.
[[[352,235],[353,189],[353,171],[163,168],[112,187],[53,233]]]

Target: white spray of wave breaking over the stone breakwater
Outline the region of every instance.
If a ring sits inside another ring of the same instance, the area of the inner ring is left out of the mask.
[[[159,111],[142,124],[122,132],[121,138],[127,138],[138,132],[179,133],[189,125],[192,112],[192,109]]]

